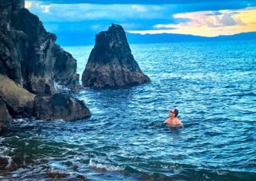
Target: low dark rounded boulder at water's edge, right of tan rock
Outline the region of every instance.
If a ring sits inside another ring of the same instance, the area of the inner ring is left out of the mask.
[[[39,119],[76,120],[90,117],[91,113],[83,101],[58,93],[53,96],[38,94],[33,115]]]

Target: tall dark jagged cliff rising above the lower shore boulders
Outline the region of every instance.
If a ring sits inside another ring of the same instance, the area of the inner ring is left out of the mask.
[[[24,8],[24,0],[0,4],[0,73],[24,89],[52,94],[54,80],[79,85],[76,59],[55,44],[36,15]]]

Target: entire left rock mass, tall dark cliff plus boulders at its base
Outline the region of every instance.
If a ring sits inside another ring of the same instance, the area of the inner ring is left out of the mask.
[[[56,45],[56,35],[45,31],[24,4],[0,1],[0,131],[10,126],[13,115],[66,120],[90,116],[83,101],[56,96],[54,82],[79,87],[76,59]]]

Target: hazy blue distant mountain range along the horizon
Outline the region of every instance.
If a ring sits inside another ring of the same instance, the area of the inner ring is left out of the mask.
[[[94,45],[95,34],[89,33],[57,33],[57,42],[61,46]],[[133,34],[126,33],[130,44],[140,43],[169,43],[191,41],[225,41],[225,40],[256,40],[256,32],[239,33],[230,36],[193,36],[188,34]]]

